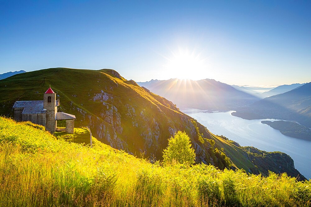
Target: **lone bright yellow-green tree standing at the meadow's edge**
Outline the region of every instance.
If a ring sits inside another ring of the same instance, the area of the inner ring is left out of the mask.
[[[194,149],[191,147],[189,136],[185,132],[178,131],[174,137],[170,137],[167,148],[163,151],[164,162],[176,161],[180,164],[193,164],[195,159]]]

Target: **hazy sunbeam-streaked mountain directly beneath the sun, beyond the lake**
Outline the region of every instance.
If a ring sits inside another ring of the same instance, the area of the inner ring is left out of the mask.
[[[257,97],[213,79],[198,81],[188,79],[151,80],[138,84],[167,98],[177,107],[183,109],[235,110],[259,100]]]

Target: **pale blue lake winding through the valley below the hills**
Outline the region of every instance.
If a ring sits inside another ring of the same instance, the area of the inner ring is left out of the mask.
[[[213,134],[224,135],[241,146],[254,146],[264,151],[281,151],[290,155],[295,168],[306,178],[311,178],[311,142],[288,137],[280,131],[262,124],[262,120],[247,120],[232,116],[233,111],[208,113],[197,109],[183,110],[185,114],[197,119]]]

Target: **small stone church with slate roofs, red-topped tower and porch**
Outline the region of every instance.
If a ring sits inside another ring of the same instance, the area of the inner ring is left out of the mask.
[[[16,121],[31,121],[34,124],[45,126],[54,133],[57,130],[57,120],[66,120],[66,132],[73,133],[75,115],[57,112],[59,100],[50,87],[43,94],[43,101],[16,101],[14,119]]]

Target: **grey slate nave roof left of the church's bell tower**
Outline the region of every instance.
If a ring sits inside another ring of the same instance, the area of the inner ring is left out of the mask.
[[[24,108],[22,114],[44,114],[43,101],[16,101],[13,108]]]

